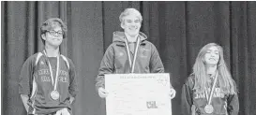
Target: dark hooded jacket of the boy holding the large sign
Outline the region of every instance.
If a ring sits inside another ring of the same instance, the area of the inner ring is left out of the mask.
[[[146,36],[143,33],[140,33],[138,37],[141,38],[141,43],[138,49],[134,73],[163,73],[164,67],[156,47],[146,40]],[[124,32],[113,33],[113,43],[106,50],[98,69],[97,89],[105,87],[105,74],[130,73],[125,38]],[[131,60],[133,60],[134,54],[130,52],[130,56]]]

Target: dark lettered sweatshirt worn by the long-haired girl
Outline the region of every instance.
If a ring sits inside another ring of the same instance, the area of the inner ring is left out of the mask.
[[[220,75],[218,75],[220,76]],[[217,83],[213,93],[211,105],[214,108],[212,114],[207,114],[204,107],[207,104],[205,93],[196,93],[193,90],[195,77],[190,75],[182,88],[182,112],[183,115],[237,115],[239,101],[237,93],[224,93]],[[234,86],[235,82],[233,81]],[[208,88],[207,90],[211,90]],[[209,93],[208,93],[209,94]],[[193,107],[193,108],[192,108]],[[191,109],[192,108],[192,109]]]

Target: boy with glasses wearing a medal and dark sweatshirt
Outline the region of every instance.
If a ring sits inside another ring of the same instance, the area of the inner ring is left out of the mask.
[[[78,90],[74,64],[59,50],[67,26],[52,18],[42,23],[40,32],[44,50],[30,56],[21,70],[23,105],[28,114],[70,115]]]

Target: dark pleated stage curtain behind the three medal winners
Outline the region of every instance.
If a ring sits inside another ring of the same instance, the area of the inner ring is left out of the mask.
[[[120,13],[135,7],[143,14],[141,31],[158,49],[177,91],[173,115],[181,115],[181,87],[191,73],[199,50],[216,42],[236,81],[239,115],[256,115],[256,2],[1,2],[2,114],[25,115],[18,93],[24,61],[42,50],[39,27],[48,18],[68,23],[61,45],[76,65],[79,94],[75,115],[105,115],[95,78],[113,31],[122,30]]]

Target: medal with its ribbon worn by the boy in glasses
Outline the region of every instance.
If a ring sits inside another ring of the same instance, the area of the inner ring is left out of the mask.
[[[46,51],[43,50],[45,55],[47,56],[46,54]],[[49,69],[50,69],[50,74],[51,74],[51,79],[52,79],[52,84],[53,84],[53,91],[50,93],[51,95],[51,98],[53,100],[58,100],[59,97],[60,97],[60,93],[57,91],[57,84],[58,84],[58,73],[59,73],[59,63],[60,63],[60,59],[59,59],[59,55],[57,56],[57,67],[56,67],[56,76],[55,76],[55,81],[53,80],[53,69],[52,69],[52,65],[50,64],[50,61],[48,60],[48,66],[49,66]]]

